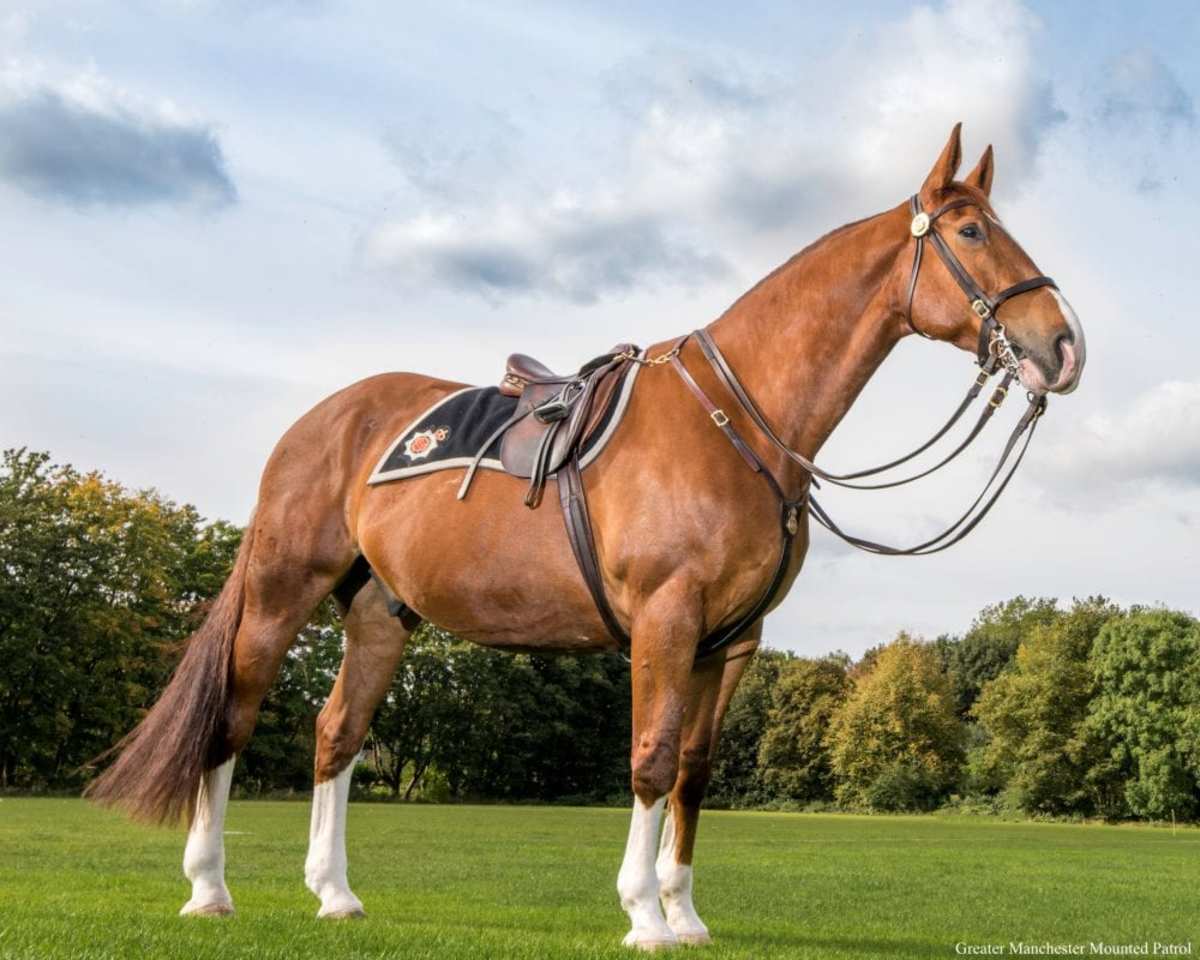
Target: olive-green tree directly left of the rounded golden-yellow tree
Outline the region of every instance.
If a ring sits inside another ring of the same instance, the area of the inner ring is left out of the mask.
[[[770,694],[758,746],[758,778],[773,797],[833,799],[826,734],[850,692],[848,658],[786,661]]]

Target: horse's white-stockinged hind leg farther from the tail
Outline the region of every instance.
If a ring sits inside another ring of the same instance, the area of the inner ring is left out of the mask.
[[[361,917],[362,902],[346,876],[346,809],[354,760],[376,707],[388,692],[409,631],[388,612],[383,592],[368,580],[338,596],[346,655],[334,691],[317,718],[316,785],[305,884],[320,898],[318,917]]]

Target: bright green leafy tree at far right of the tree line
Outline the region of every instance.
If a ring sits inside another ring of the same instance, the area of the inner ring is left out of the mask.
[[[1087,730],[1124,781],[1134,816],[1200,811],[1200,623],[1169,610],[1135,610],[1098,632],[1098,691]]]

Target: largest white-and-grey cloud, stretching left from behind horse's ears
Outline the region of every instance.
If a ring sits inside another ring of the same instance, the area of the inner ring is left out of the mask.
[[[847,199],[862,214],[899,202],[959,119],[980,146],[997,143],[1003,175],[1025,175],[1062,119],[1034,68],[1038,29],[1015,0],[952,0],[820,62],[649,49],[608,72],[612,158],[582,187],[522,179],[518,136],[497,118],[457,145],[392,132],[416,202],[364,250],[402,282],[493,301],[695,287],[739,260],[754,275],[781,239],[844,220]],[[502,188],[460,185],[486,179],[493,156],[508,157],[490,170],[509,175]]]

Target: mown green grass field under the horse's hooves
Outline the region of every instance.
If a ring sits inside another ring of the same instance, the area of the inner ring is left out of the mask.
[[[0,956],[630,955],[614,890],[625,811],[352,805],[356,922],[314,919],[307,820],[305,804],[234,803],[238,914],[182,919],[180,833],[79,800],[0,799]],[[1016,940],[1198,953],[1200,830],[708,812],[696,902],[715,943],[686,954],[706,960],[954,956],[959,941]]]

